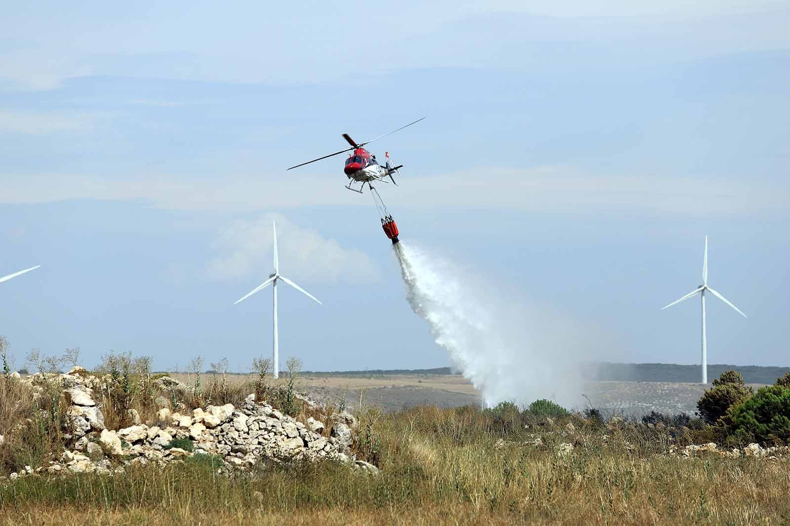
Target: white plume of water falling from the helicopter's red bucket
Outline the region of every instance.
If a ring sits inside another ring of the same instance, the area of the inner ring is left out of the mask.
[[[486,405],[529,404],[538,398],[568,407],[579,403],[579,360],[571,360],[569,346],[541,345],[530,335],[543,325],[540,315],[501,298],[491,300],[486,282],[419,248],[401,241],[393,250],[408,304],[429,323],[453,366],[482,391]]]

